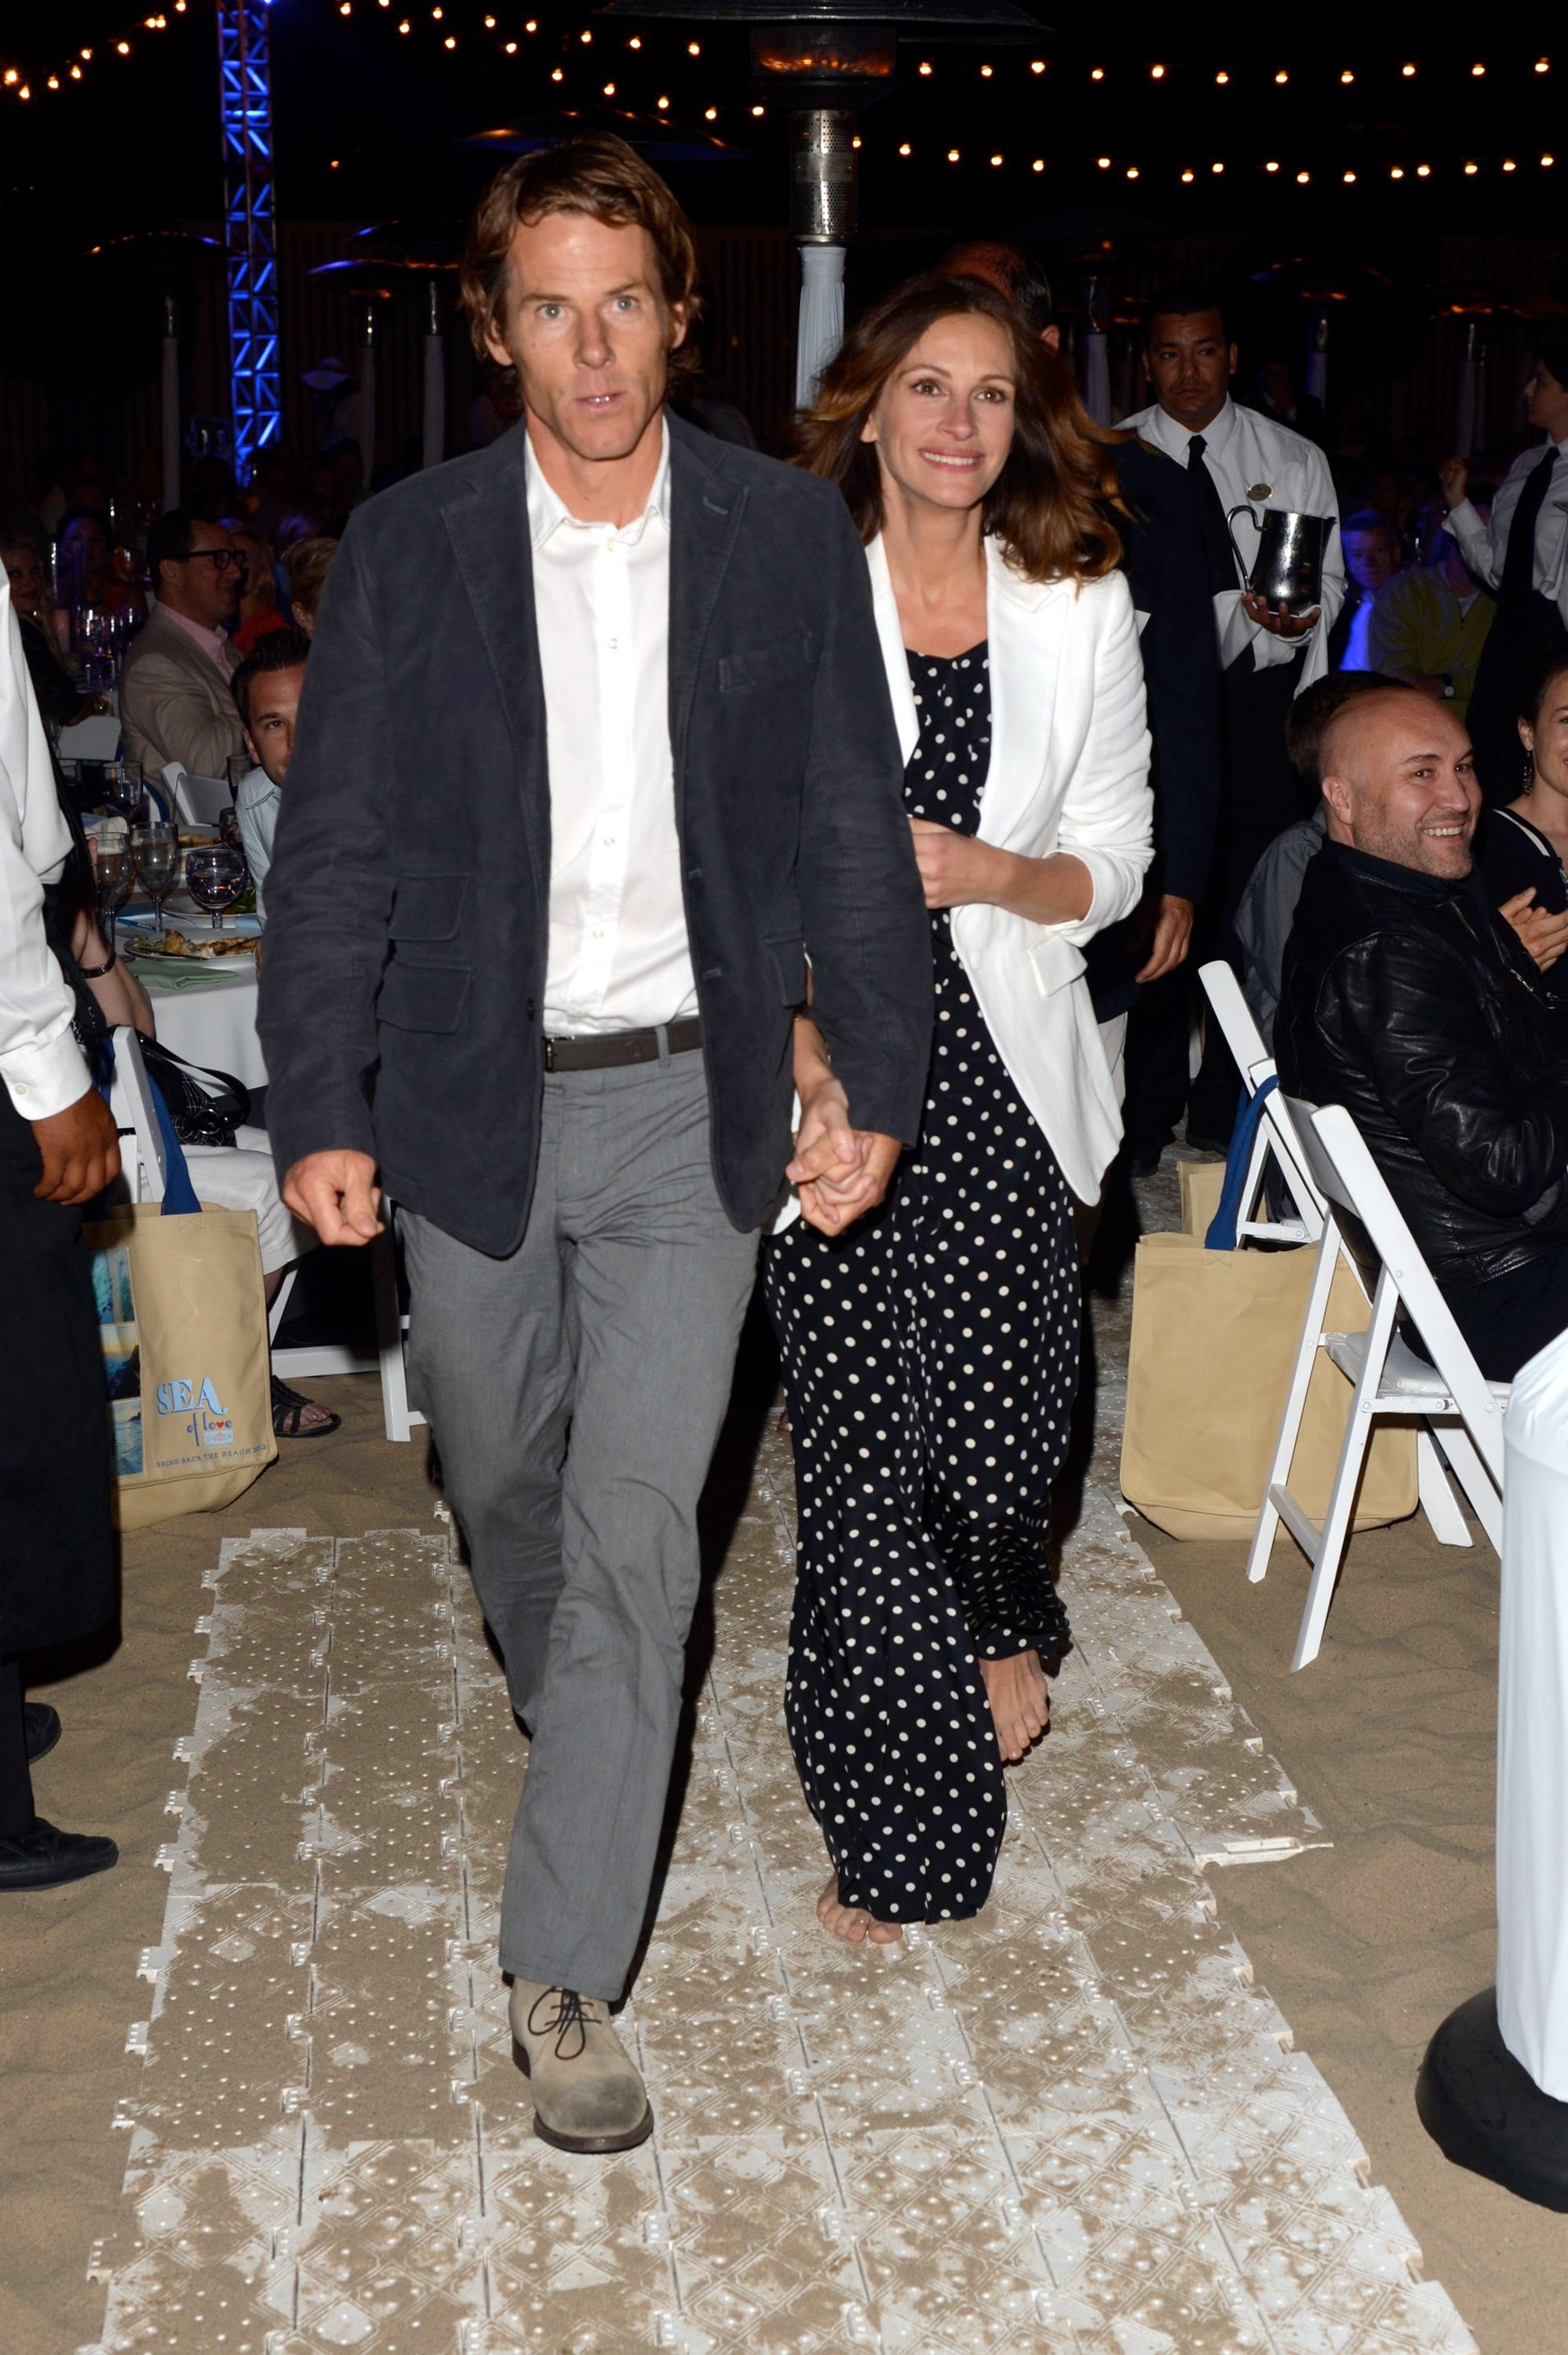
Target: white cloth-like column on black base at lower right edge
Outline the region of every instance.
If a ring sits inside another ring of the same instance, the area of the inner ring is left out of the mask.
[[[1497,2025],[1568,2101],[1568,1333],[1502,1418]]]

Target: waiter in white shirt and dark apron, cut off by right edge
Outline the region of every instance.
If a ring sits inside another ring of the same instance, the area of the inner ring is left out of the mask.
[[[1568,629],[1568,320],[1544,320],[1535,337],[1526,417],[1547,440],[1514,459],[1490,525],[1467,497],[1464,459],[1441,471],[1448,530],[1474,577],[1497,591],[1467,714],[1488,801],[1519,794],[1519,690],[1544,641]]]

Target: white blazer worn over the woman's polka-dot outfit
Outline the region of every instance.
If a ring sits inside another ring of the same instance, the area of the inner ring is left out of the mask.
[[[866,563],[909,763],[921,728],[881,537]],[[1083,977],[1083,944],[1132,914],[1154,857],[1137,617],[1121,572],[1081,584],[1026,582],[996,539],[986,539],[986,572],[991,765],[979,836],[1031,860],[1071,850],[1095,897],[1074,923],[956,907],[954,949],[1062,1175],[1081,1201],[1097,1201],[1121,1142],[1121,1104]]]

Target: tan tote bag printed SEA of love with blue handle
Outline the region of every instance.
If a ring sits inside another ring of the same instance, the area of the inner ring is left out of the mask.
[[[122,1531],[233,1505],[278,1453],[257,1215],[198,1203],[162,1100],[158,1114],[162,1201],[82,1229]]]

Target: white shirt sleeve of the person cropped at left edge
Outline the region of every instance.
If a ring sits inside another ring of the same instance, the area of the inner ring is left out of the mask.
[[[0,1081],[24,1121],[47,1121],[87,1093],[75,999],[42,928],[42,888],[71,855],[71,829],[9,598],[0,629]]]

